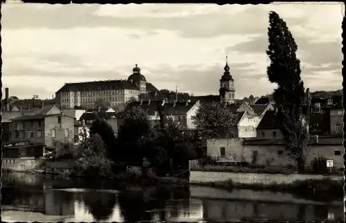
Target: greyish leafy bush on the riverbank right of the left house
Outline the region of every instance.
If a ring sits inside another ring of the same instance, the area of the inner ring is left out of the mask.
[[[104,177],[109,174],[111,162],[106,155],[107,145],[102,141],[100,135],[93,134],[89,139],[82,142],[80,146],[82,147],[81,157],[74,161],[77,175]]]

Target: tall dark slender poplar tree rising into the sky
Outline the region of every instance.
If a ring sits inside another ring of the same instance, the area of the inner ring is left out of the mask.
[[[268,66],[268,80],[277,84],[273,100],[277,106],[277,120],[281,122],[281,132],[286,141],[286,152],[298,164],[298,172],[304,171],[307,152],[307,127],[302,118],[304,83],[300,78],[298,49],[286,23],[276,12],[269,14],[268,51],[271,60]]]

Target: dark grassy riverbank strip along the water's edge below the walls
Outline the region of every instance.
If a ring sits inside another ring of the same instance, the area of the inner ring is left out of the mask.
[[[12,172],[12,171],[10,171]],[[44,175],[44,172],[26,171],[28,174],[34,175]],[[258,176],[257,176],[258,175]],[[224,178],[225,180],[206,179],[201,180],[188,180],[176,177],[156,177],[154,175],[149,175],[143,177],[142,175],[134,173],[122,173],[120,175],[112,175],[106,177],[111,181],[118,181],[121,184],[138,184],[141,186],[206,186],[210,188],[218,188],[222,190],[232,191],[235,189],[251,189],[251,190],[271,190],[273,192],[291,193],[297,197],[304,197],[305,199],[313,199],[320,202],[331,202],[333,200],[343,197],[343,179],[335,176],[322,176],[316,175],[315,179],[304,179],[295,177],[294,179],[288,179],[286,176],[286,181],[279,180],[275,181],[277,175],[268,174],[257,174],[253,177],[253,181],[249,181],[246,178],[246,174],[242,175],[243,180],[234,181],[232,179]],[[265,176],[264,176],[265,175]],[[250,176],[250,175],[249,175]],[[56,178],[69,179],[73,178],[68,175],[55,175]],[[268,178],[271,177],[271,181],[265,180],[257,181],[256,178]],[[315,176],[311,176],[315,177]],[[89,177],[78,177],[78,178],[89,178]],[[91,177],[95,180],[95,177]],[[244,180],[246,179],[246,180]],[[246,182],[246,183],[242,183]]]

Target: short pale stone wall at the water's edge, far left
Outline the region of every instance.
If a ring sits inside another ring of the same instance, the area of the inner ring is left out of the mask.
[[[44,162],[43,159],[2,159],[3,170],[30,171],[38,170]]]

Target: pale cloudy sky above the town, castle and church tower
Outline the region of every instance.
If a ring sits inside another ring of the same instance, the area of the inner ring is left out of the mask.
[[[126,79],[134,64],[158,89],[218,94],[228,53],[235,96],[271,93],[268,12],[286,21],[312,91],[341,89],[342,3],[271,5],[3,4],[3,85],[52,98],[64,82]]]

